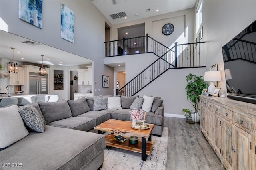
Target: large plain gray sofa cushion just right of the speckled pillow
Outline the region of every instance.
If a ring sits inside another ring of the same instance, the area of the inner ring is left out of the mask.
[[[72,113],[66,100],[58,102],[38,102],[46,123],[72,117]]]

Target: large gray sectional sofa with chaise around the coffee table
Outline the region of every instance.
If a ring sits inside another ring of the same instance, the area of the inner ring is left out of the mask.
[[[93,128],[108,119],[131,121],[130,107],[138,99],[138,96],[115,97],[119,97],[120,106],[108,103],[108,98],[104,96],[32,103],[41,115],[44,132],[38,133],[26,127],[30,130],[29,134],[24,134],[25,137],[0,151],[0,163],[6,165],[1,169],[15,168],[12,164],[8,167],[6,163],[22,163],[20,168],[26,170],[100,169],[105,138],[104,135],[92,133],[95,132]],[[155,124],[152,134],[157,136],[161,136],[163,130],[162,103],[161,99],[154,97],[151,110],[146,114],[146,123]],[[117,109],[109,108],[110,105]]]

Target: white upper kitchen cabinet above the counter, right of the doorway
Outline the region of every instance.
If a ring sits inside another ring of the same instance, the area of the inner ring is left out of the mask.
[[[77,70],[77,85],[92,85],[92,68]]]

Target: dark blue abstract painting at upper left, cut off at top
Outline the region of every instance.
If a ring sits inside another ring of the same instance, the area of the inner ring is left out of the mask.
[[[42,0],[19,0],[19,18],[42,28]]]

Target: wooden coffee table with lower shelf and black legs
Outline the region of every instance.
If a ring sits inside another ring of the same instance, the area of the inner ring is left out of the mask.
[[[106,135],[106,146],[112,146],[115,148],[120,148],[124,150],[130,150],[133,152],[141,153],[141,160],[146,161],[147,155],[150,154],[154,142],[151,141],[151,132],[154,124],[147,123],[150,128],[146,130],[137,130],[132,128],[132,122],[130,121],[120,121],[115,119],[108,119],[107,121],[101,123],[100,125],[94,127],[95,130],[99,131],[99,134],[104,132],[110,132],[111,134]],[[118,142],[114,140],[114,136],[120,134],[127,137],[124,142]],[[128,138],[130,136],[141,137],[138,144],[130,144]],[[146,140],[148,138],[148,140]]]

